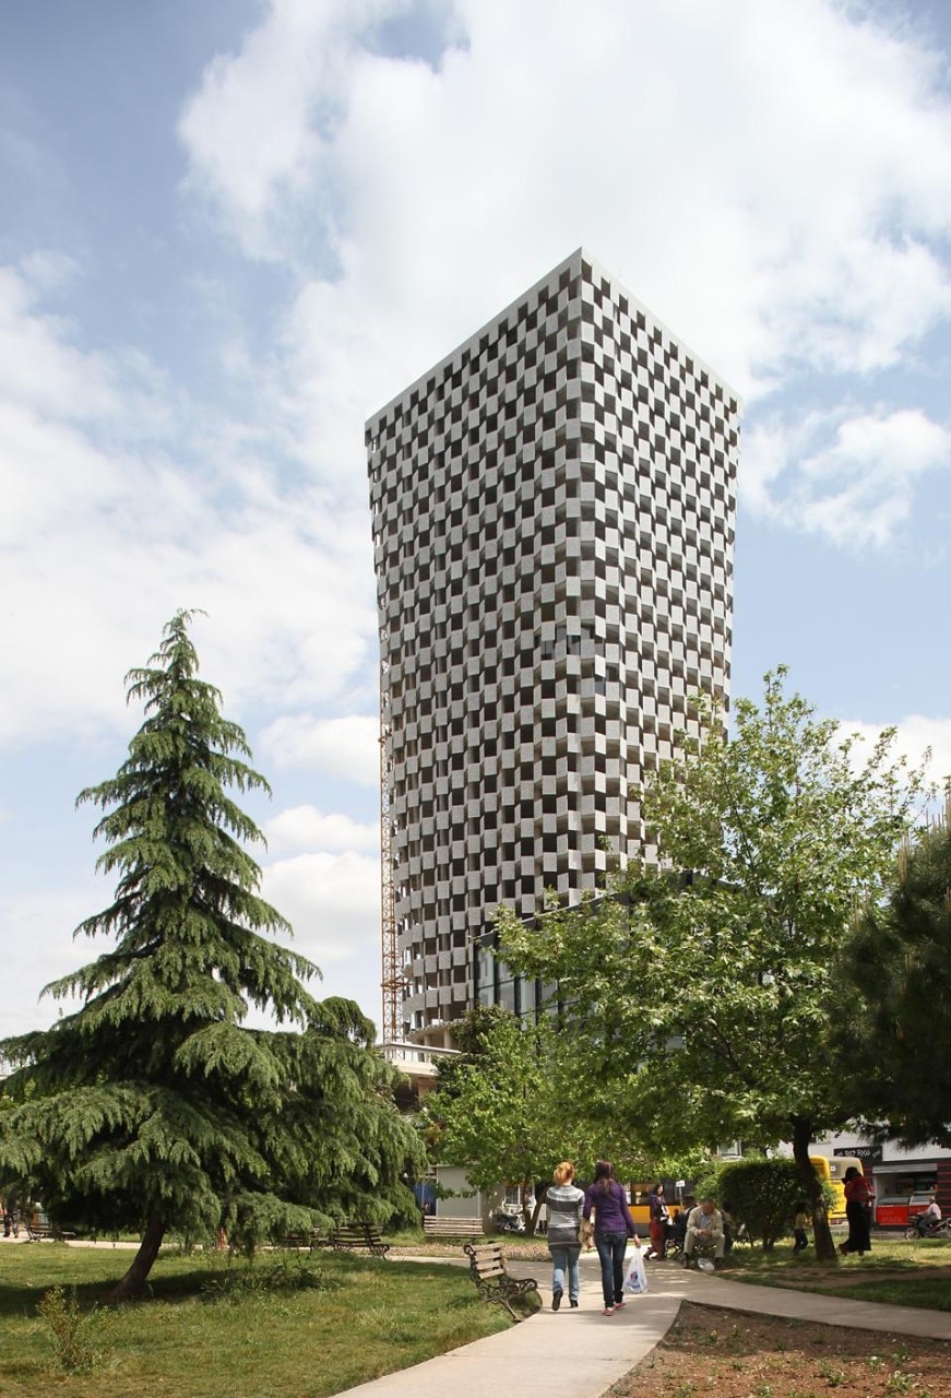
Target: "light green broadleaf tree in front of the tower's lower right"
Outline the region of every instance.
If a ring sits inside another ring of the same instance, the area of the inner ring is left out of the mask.
[[[558,980],[589,1081],[636,1103],[657,1153],[694,1141],[790,1141],[817,1255],[835,1258],[810,1141],[848,1121],[832,1043],[845,1012],[834,963],[857,902],[884,886],[922,790],[766,675],[734,734],[709,702],[701,737],[643,793],[662,868],[631,867],[613,898],[537,927],[502,918],[502,958]]]

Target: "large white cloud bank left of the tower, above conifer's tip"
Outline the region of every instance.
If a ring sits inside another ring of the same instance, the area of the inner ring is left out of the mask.
[[[0,742],[126,724],[122,677],[182,605],[232,707],[336,698],[376,633],[362,500],[281,485],[280,432],[183,394],[172,447],[161,376],[74,338],[0,270]]]

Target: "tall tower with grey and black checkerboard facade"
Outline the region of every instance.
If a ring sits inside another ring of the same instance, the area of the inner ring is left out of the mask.
[[[692,695],[729,696],[738,404],[579,249],[366,446],[383,1032],[436,1042],[477,995],[531,1009],[480,974],[496,906],[572,903],[649,856],[632,788]]]

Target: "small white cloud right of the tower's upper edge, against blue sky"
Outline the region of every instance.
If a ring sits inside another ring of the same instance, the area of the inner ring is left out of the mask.
[[[919,410],[773,418],[744,439],[743,498],[834,544],[884,547],[908,524],[920,477],[950,466],[951,431]]]

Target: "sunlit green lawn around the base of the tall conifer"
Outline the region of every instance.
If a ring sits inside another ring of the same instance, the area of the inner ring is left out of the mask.
[[[227,1300],[203,1293],[228,1264],[159,1257],[152,1297],[106,1311],[102,1357],[88,1374],[60,1374],[36,1304],[76,1288],[83,1310],[101,1302],[131,1254],[55,1243],[0,1250],[0,1394],[127,1398],[322,1398],[420,1363],[512,1324],[478,1300],[464,1269],[313,1255],[322,1290]],[[260,1260],[267,1265],[267,1257]],[[234,1262],[232,1268],[245,1267]],[[94,1316],[91,1332],[99,1327]]]

